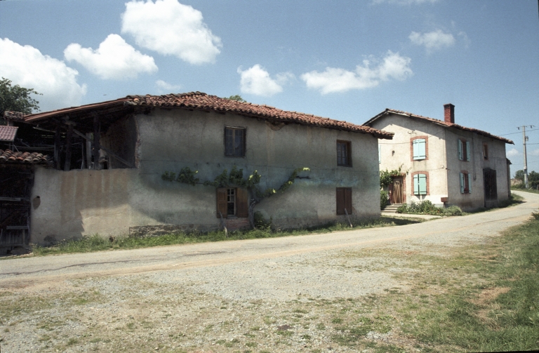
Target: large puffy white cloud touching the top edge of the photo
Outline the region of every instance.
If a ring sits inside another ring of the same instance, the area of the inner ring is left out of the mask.
[[[222,44],[203,20],[200,11],[178,0],[132,0],[121,15],[121,32],[131,34],[143,48],[204,64],[215,62]]]

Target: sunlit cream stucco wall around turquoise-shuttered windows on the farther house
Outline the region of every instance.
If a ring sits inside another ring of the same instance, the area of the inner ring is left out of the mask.
[[[425,124],[419,119],[406,118],[390,114],[376,120],[373,128],[394,133],[393,140],[379,140],[380,171],[399,169],[407,173],[406,203],[429,200],[432,204],[443,206],[441,197],[447,196],[446,160],[444,128],[434,124]],[[411,139],[427,136],[427,159],[413,160]],[[422,171],[428,173],[427,195],[413,194],[413,173]]]

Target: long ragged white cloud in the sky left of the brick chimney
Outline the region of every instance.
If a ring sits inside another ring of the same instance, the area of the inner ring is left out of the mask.
[[[364,60],[363,65],[357,65],[355,71],[326,67],[324,72],[307,72],[300,77],[308,88],[319,89],[322,94],[346,92],[375,87],[380,81],[390,79],[402,81],[413,74],[410,62],[411,58],[387,51],[387,55],[377,67],[371,67],[371,62]]]

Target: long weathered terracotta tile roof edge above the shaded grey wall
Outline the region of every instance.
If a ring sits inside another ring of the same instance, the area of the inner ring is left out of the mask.
[[[229,112],[234,114],[259,117],[270,121],[288,122],[307,126],[319,126],[337,130],[368,133],[376,138],[392,139],[393,133],[379,131],[368,126],[356,125],[347,121],[338,121],[323,118],[313,114],[300,112],[287,112],[286,110],[270,107],[269,105],[255,105],[247,102],[238,102],[216,95],[201,92],[191,92],[169,95],[128,95],[126,105],[143,107],[183,107],[187,109],[211,110],[214,112]]]

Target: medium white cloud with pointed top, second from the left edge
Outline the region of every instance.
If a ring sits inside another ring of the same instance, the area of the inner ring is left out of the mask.
[[[95,51],[69,44],[64,56],[76,61],[100,79],[134,79],[141,72],[156,72],[154,58],[144,55],[130,46],[118,34],[109,34]]]

